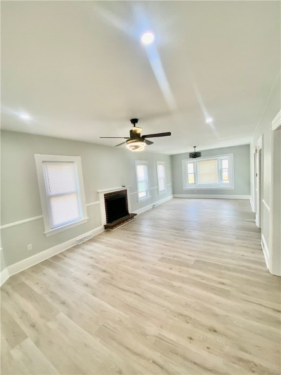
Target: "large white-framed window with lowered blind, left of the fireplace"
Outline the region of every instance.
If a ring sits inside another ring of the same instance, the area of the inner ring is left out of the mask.
[[[87,221],[79,156],[35,154],[45,234]]]

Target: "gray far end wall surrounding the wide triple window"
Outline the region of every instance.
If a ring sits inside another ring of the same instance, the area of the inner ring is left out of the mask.
[[[200,150],[200,149],[199,149]],[[174,194],[212,194],[212,195],[250,195],[250,146],[222,147],[203,150],[202,157],[233,154],[234,189],[188,189],[183,190],[182,163],[188,159],[188,152],[172,155],[173,193]]]

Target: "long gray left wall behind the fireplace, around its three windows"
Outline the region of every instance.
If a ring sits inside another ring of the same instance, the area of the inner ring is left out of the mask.
[[[81,156],[86,203],[99,200],[98,189],[131,185],[133,211],[172,194],[171,158],[150,152],[131,152],[126,148],[44,137],[26,133],[1,132],[1,225],[42,214],[34,154]],[[148,160],[152,198],[137,201],[135,159]],[[167,193],[158,195],[156,161],[165,161]],[[6,266],[49,249],[101,225],[100,205],[87,207],[89,220],[73,229],[46,237],[43,220],[1,229],[1,242]],[[27,251],[32,243],[33,250]]]

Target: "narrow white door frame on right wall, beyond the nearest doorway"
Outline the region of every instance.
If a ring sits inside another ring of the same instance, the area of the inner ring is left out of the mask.
[[[261,160],[260,160],[260,150],[261,150]],[[262,163],[262,156],[263,156],[263,134],[258,139],[257,146],[256,146],[256,174],[255,174],[255,209],[256,209],[256,224],[257,227],[261,228],[261,211],[262,211],[262,188],[263,188],[263,163]],[[260,163],[261,163],[261,172],[260,172]]]

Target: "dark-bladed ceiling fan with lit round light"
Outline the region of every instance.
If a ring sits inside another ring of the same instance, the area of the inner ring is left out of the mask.
[[[155,138],[155,137],[166,137],[168,135],[171,135],[171,132],[168,131],[166,133],[156,133],[156,134],[146,134],[141,135],[141,127],[136,126],[138,124],[139,119],[131,119],[131,124],[133,125],[133,128],[130,130],[130,137],[100,137],[100,138],[122,138],[126,139],[126,141],[120,143],[117,146],[121,146],[126,144],[126,146],[131,151],[142,151],[146,145],[152,145],[154,142],[149,141],[146,138]]]

